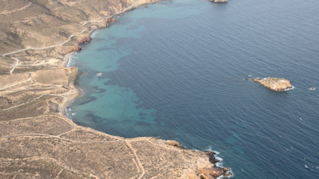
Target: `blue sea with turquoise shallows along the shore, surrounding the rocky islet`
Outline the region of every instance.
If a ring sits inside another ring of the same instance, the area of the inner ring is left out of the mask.
[[[83,95],[68,116],[108,134],[217,150],[234,179],[319,179],[318,7],[169,0],[119,15],[71,60]],[[295,89],[243,80],[254,77]]]

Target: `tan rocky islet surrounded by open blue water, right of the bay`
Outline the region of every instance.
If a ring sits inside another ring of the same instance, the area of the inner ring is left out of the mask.
[[[289,80],[283,78],[276,78],[276,77],[268,77],[266,79],[262,78],[254,78],[252,79],[254,82],[258,82],[260,85],[274,90],[274,91],[283,91],[286,89],[292,89],[293,86],[290,84]]]

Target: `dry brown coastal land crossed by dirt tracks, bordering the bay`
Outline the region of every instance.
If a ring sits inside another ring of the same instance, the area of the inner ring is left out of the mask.
[[[10,0],[0,7],[0,172],[4,178],[215,179],[214,153],[126,139],[64,115],[80,92],[69,56],[112,17],[155,0]]]

